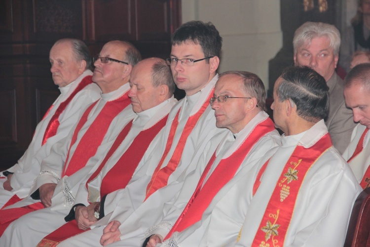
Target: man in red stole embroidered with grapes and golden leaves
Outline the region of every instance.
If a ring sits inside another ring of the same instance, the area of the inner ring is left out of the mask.
[[[237,246],[343,246],[361,188],[324,124],[328,89],[307,67],[289,68],[275,82],[271,109],[285,135],[261,177],[240,239],[236,232]]]

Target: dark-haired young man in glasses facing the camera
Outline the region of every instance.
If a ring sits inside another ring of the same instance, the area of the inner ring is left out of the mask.
[[[216,127],[209,105],[218,79],[222,46],[219,32],[212,23],[191,21],[174,32],[171,42],[167,63],[174,82],[185,90],[186,96],[171,110],[161,145],[148,150],[151,159],[142,167],[145,175],[134,175],[133,182],[119,192],[120,198],[107,195],[106,200],[114,203],[105,205],[105,210],[112,214],[94,224],[107,226],[105,231],[113,233],[103,237],[104,245],[120,238],[123,246],[139,245],[148,227],[161,218],[161,211],[155,209],[171,200],[180,190],[184,176],[195,169],[196,163],[191,161],[199,159],[210,138],[225,134]],[[83,240],[87,242],[80,243],[98,244],[103,229],[97,227],[84,233]]]

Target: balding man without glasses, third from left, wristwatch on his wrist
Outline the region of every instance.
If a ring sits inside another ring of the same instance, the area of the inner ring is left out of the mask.
[[[100,157],[93,172],[77,186],[79,188],[71,212],[55,209],[53,201],[51,210],[45,208],[14,222],[13,236],[27,232],[27,243],[32,241],[36,245],[47,233],[61,227],[45,237],[41,245],[49,244],[50,240],[59,242],[87,230],[100,217],[109,213],[104,206],[106,195],[124,188],[130,182],[132,175],[143,164],[148,146],[158,144],[159,138],[156,136],[176,103],[173,97],[175,84],[163,59],[149,58],[139,62],[131,72],[130,86],[129,96],[137,116],[121,130],[106,154]],[[70,222],[66,223],[65,217]],[[44,230],[33,232],[34,224],[42,225]],[[14,241],[18,240],[13,239],[11,244],[19,243]]]

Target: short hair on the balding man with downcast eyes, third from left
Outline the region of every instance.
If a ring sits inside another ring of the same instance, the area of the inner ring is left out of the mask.
[[[151,67],[151,81],[154,87],[167,85],[170,96],[175,91],[175,83],[172,78],[171,69],[163,59],[153,64]]]

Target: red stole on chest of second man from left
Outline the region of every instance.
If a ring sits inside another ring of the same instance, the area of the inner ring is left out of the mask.
[[[118,99],[107,102],[94,122],[89,126],[85,134],[82,136],[71,160],[69,160],[71,147],[77,139],[78,132],[86,123],[88,115],[96,103],[97,102],[95,102],[85,111],[74,130],[62,177],[65,175],[70,176],[86,165],[87,161],[95,155],[98,147],[102,143],[103,138],[106,135],[109,126],[111,125],[111,121],[118,115],[118,113],[125,109],[131,103],[131,101],[128,97],[128,92],[126,92]]]

